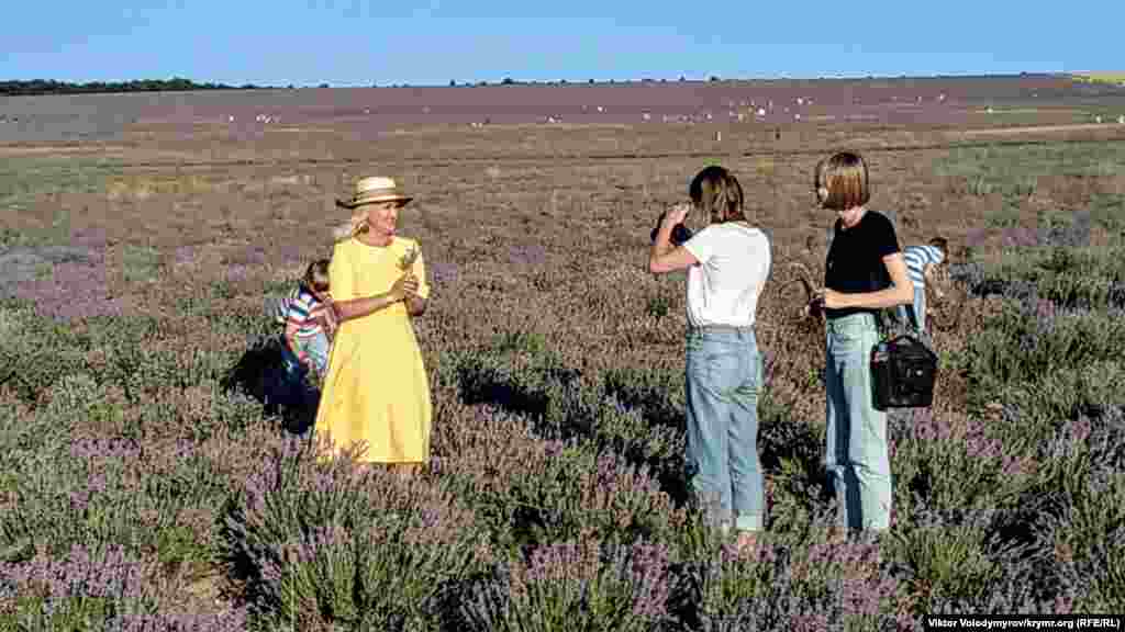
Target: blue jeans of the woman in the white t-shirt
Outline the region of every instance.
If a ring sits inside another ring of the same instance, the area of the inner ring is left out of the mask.
[[[760,531],[765,514],[758,462],[762,356],[754,331],[687,334],[686,466],[692,491],[719,526]]]

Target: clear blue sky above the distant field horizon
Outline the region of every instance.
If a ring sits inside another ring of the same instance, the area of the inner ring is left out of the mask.
[[[830,4],[9,2],[0,79],[370,85],[1125,70],[1125,0]]]

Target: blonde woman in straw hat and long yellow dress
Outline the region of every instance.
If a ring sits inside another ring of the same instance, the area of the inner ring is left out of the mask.
[[[316,434],[334,450],[360,444],[358,460],[408,473],[430,461],[430,382],[412,319],[430,286],[418,244],[396,235],[411,201],[389,178],[364,178],[351,223],[336,232],[328,268],[339,320],[316,414]]]

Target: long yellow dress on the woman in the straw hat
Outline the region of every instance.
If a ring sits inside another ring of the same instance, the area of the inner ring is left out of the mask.
[[[395,237],[370,246],[352,237],[338,242],[328,268],[333,300],[366,298],[390,290],[404,274],[399,262],[417,242]],[[421,251],[420,251],[421,252]],[[430,285],[421,254],[414,261],[418,295]],[[316,435],[335,450],[361,442],[360,461],[429,463],[432,407],[430,381],[404,303],[341,323],[316,412]]]

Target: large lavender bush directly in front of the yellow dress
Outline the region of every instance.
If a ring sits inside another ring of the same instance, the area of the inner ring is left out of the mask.
[[[440,481],[326,457],[292,440],[228,505],[248,603],[278,625],[426,629],[440,590],[492,561],[486,532]]]

